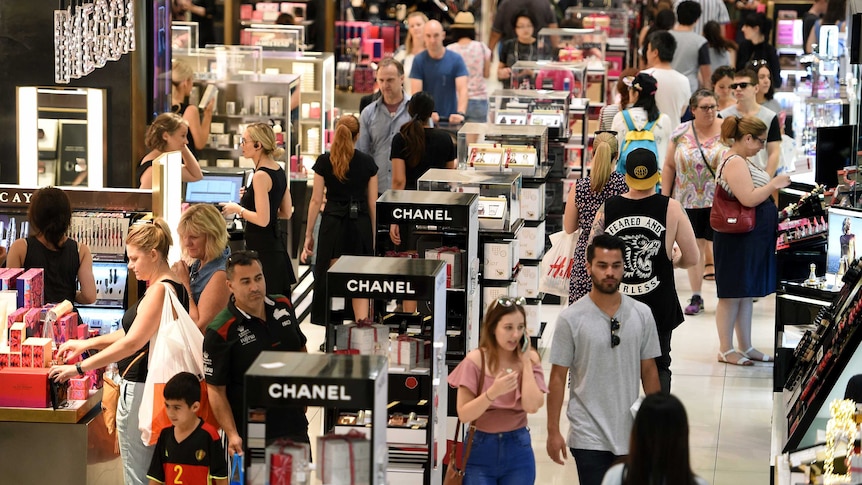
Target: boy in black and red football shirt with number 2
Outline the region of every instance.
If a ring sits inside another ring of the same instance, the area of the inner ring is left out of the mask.
[[[180,372],[164,390],[173,426],[162,430],[147,477],[150,485],[227,485],[227,459],[218,430],[197,415],[201,386],[194,374]]]

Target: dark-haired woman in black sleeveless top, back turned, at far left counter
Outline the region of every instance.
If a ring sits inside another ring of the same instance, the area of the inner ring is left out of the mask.
[[[87,305],[95,302],[93,255],[89,246],[67,236],[72,224],[69,196],[56,187],[33,192],[27,220],[33,235],[12,243],[6,267],[42,268],[46,303],[69,300]]]

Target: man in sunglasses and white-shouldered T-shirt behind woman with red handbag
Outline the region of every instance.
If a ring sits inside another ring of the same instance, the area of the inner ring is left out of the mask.
[[[750,69],[737,71],[733,76],[733,95],[736,104],[721,112],[722,118],[754,116],[760,119],[768,128],[766,145],[760,151],[751,156],[751,160],[761,170],[766,170],[770,176],[775,174],[778,168],[779,156],[781,155],[781,129],[778,124],[778,115],[774,111],[757,104],[757,93],[760,85],[757,74]]]

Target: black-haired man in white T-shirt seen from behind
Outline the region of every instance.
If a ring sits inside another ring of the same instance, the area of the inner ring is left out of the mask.
[[[670,132],[679,126],[691,97],[688,78],[671,67],[676,40],[670,32],[656,32],[647,38],[647,65],[643,72],[656,79],[655,102],[659,111],[670,119]],[[662,155],[663,156],[663,155]]]

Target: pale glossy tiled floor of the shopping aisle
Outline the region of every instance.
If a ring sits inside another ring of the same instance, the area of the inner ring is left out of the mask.
[[[688,277],[678,270],[676,278],[680,301],[685,306],[690,297]],[[705,282],[703,291],[706,311],[687,317],[674,332],[671,352],[671,392],[688,411],[692,468],[714,485],[768,484],[772,365],[737,367],[717,362],[715,283]],[[552,338],[559,309],[556,305],[543,307],[548,322],[546,342]],[[753,342],[767,353],[773,350],[774,315],[774,297],[754,304]],[[302,328],[309,336],[309,350],[317,349],[323,338],[320,327],[304,323]],[[549,373],[548,364],[545,372]],[[545,451],[546,419],[544,409],[530,416],[538,468],[536,483],[573,485],[577,471],[571,457],[561,466],[552,462]],[[565,424],[563,429],[567,429]]]

